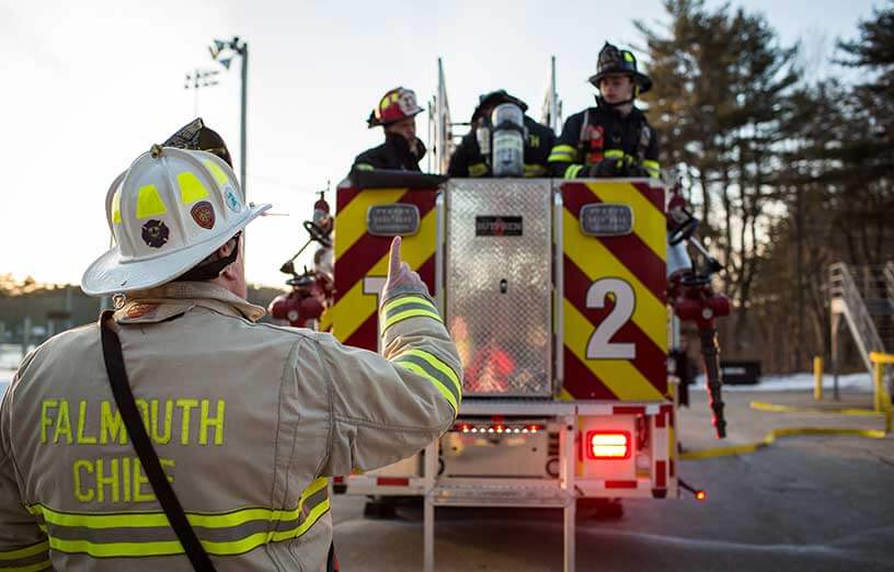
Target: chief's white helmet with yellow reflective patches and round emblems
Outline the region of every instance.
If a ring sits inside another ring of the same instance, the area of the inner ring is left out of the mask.
[[[115,180],[106,217],[115,244],[81,278],[89,296],[144,290],[185,273],[271,205],[245,205],[230,167],[205,152],[153,146]]]

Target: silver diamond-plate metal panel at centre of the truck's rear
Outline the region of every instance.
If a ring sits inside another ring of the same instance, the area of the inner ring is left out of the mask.
[[[446,316],[467,396],[551,394],[551,190],[546,180],[452,180]]]

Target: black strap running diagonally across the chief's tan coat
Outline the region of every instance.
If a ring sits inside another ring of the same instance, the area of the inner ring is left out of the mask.
[[[127,371],[124,368],[124,355],[122,354],[118,334],[106,325],[106,322],[112,318],[112,310],[102,313],[100,317],[100,331],[105,371],[108,374],[108,382],[112,386],[112,393],[115,396],[115,403],[118,405],[124,425],[127,427],[127,434],[130,436],[134,449],[136,449],[142,468],[149,478],[152,491],[154,491],[156,497],[164,510],[168,522],[171,523],[180,544],[183,545],[183,550],[190,558],[193,569],[199,572],[213,572],[215,568],[211,564],[211,559],[208,558],[208,553],[205,552],[205,548],[198,541],[195,530],[190,526],[186,513],[183,512],[183,506],[181,506],[176,494],[174,494],[171,483],[168,482],[168,477],[161,468],[152,442],[149,441],[149,435],[146,434],[146,427],[142,425],[142,419],[134,399],[134,392],[127,381]]]

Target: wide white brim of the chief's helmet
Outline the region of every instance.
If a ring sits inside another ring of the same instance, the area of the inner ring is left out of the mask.
[[[124,260],[119,245],[115,244],[90,264],[81,277],[81,289],[88,296],[107,296],[160,286],[202,262],[271,206],[270,204],[249,206],[241,219],[214,237],[148,260]]]

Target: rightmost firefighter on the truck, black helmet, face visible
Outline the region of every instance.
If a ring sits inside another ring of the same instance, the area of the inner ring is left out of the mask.
[[[596,107],[568,118],[549,157],[553,176],[661,176],[658,137],[633,105],[652,80],[637,69],[637,58],[606,42],[596,75]]]

